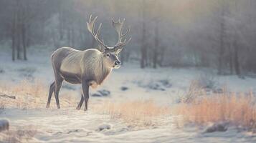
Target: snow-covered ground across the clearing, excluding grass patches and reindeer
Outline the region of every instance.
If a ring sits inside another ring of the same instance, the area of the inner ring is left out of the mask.
[[[0,82],[16,84],[24,79],[40,79],[49,86],[54,79],[50,54],[52,51],[30,51],[29,61],[11,61],[10,52],[0,52]],[[256,92],[256,79],[236,76],[219,77],[211,69],[163,68],[140,69],[137,63],[125,63],[114,69],[98,91],[110,92],[105,97],[90,96],[89,110],[76,110],[77,103],[56,109],[54,96],[51,108],[45,109],[47,101],[35,109],[19,109],[5,105],[0,119],[10,122],[9,133],[1,132],[0,142],[256,142],[255,134],[229,127],[226,132],[205,133],[207,127],[179,124],[181,117],[165,114],[154,119],[151,126],[136,127],[122,119],[100,114],[92,108],[95,105],[126,101],[151,100],[161,107],[173,107],[189,84],[199,77],[214,79],[214,87],[227,86],[232,92]],[[65,94],[66,93],[66,94]],[[67,95],[71,93],[71,95]],[[1,93],[0,93],[1,94]],[[80,100],[80,86],[64,84],[60,101],[65,96]],[[47,98],[47,94],[42,97]],[[0,101],[5,97],[0,97]],[[213,115],[214,116],[214,115]],[[14,134],[14,135],[11,135]],[[19,137],[16,137],[18,134]],[[12,137],[16,137],[15,139]]]

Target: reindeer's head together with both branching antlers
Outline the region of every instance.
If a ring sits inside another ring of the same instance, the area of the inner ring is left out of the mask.
[[[118,59],[118,54],[120,53],[120,51],[122,51],[123,46],[125,46],[126,44],[128,44],[129,41],[131,41],[131,38],[128,40],[125,39],[125,36],[128,35],[130,29],[127,29],[125,34],[123,34],[123,24],[125,22],[125,19],[123,19],[123,21],[120,21],[119,19],[117,22],[115,22],[112,19],[112,25],[115,28],[115,31],[118,33],[118,42],[115,44],[115,46],[107,46],[104,43],[104,40],[102,39],[101,41],[99,38],[100,28],[102,24],[100,23],[100,26],[96,33],[94,31],[96,19],[97,16],[94,19],[92,19],[92,15],[90,15],[90,19],[87,22],[87,29],[93,35],[94,39],[98,41],[98,44],[100,45],[100,51],[103,53],[105,59],[105,63],[109,66],[112,66],[115,69],[118,69],[121,65],[121,62]]]

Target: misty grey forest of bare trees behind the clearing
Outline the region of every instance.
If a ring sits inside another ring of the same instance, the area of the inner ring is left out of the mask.
[[[110,19],[126,19],[133,39],[120,58],[138,60],[141,68],[256,72],[254,0],[1,0],[0,42],[12,49],[14,61],[29,59],[27,50],[37,45],[97,47],[86,27],[89,14],[103,23],[101,36],[109,46],[117,40]]]

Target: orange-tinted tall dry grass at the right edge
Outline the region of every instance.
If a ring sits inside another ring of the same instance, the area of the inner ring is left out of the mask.
[[[176,113],[183,115],[185,122],[230,122],[247,129],[255,129],[256,107],[252,92],[237,94],[227,92],[226,88],[223,91],[220,94],[189,95],[193,98],[177,105]]]

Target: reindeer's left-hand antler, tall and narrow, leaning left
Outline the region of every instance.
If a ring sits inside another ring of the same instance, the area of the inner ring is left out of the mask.
[[[98,41],[98,43],[105,47],[105,49],[108,49],[108,46],[106,44],[104,44],[104,40],[100,41],[99,39],[99,34],[100,34],[100,29],[101,29],[101,26],[102,24],[100,23],[100,26],[95,34],[95,31],[94,31],[94,26],[95,26],[95,21],[96,19],[98,18],[98,16],[96,16],[93,20],[92,20],[92,15],[90,15],[90,18],[89,18],[89,21],[86,22],[87,23],[87,29],[90,31],[90,33],[93,35],[94,39],[96,41]]]

